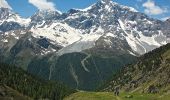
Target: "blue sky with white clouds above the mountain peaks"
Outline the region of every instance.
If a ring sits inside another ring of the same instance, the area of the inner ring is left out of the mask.
[[[0,0],[3,1],[3,0]],[[6,0],[9,6],[23,17],[29,17],[38,9],[57,9],[67,12],[71,8],[86,8],[99,0]],[[131,6],[151,17],[170,17],[170,0],[113,0]],[[0,2],[1,3],[1,2]],[[1,6],[2,4],[0,4]]]

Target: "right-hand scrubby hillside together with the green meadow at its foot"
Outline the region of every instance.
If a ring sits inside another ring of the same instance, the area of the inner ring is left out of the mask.
[[[104,92],[74,93],[64,100],[169,100],[170,44],[141,57],[136,64],[127,65],[99,90]],[[120,95],[114,95],[119,86]]]

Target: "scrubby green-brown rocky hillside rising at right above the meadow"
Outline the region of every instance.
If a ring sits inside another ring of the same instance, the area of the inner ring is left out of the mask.
[[[167,44],[141,56],[136,64],[125,66],[102,88],[112,91],[115,86],[120,86],[128,92],[167,93],[170,90],[169,77],[170,44]]]

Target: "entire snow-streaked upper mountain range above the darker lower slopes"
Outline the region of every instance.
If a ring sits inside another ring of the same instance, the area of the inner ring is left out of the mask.
[[[95,47],[97,40],[112,49],[118,39],[131,47],[125,51],[141,55],[170,42],[169,34],[162,28],[164,22],[110,0],[101,0],[88,8],[71,9],[63,14],[38,11],[29,19],[22,19],[6,8],[1,12],[1,31],[21,29],[29,23],[27,29],[33,32],[33,37],[45,37],[54,45],[68,46],[60,51],[63,53],[90,49]]]

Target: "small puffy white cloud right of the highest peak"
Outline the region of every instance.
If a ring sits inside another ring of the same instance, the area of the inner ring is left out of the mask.
[[[163,14],[163,13],[167,12],[166,8],[161,8],[161,7],[157,6],[155,4],[155,2],[152,0],[148,0],[147,2],[145,2],[143,4],[143,7],[145,7],[144,12],[146,14],[150,14],[150,15],[159,15],[159,14]]]

